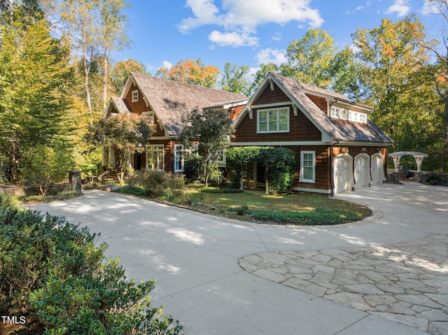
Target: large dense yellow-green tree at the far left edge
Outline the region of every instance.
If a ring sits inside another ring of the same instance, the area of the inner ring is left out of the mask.
[[[38,145],[57,145],[68,130],[68,50],[50,36],[37,1],[23,1],[0,24],[0,157],[11,178]]]

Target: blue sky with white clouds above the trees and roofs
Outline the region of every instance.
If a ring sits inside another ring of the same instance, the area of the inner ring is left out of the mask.
[[[247,65],[286,62],[291,41],[307,29],[323,29],[342,50],[353,45],[358,27],[379,27],[416,14],[426,33],[440,38],[443,22],[431,15],[428,0],[128,0],[130,48],[115,62],[135,59],[155,74],[161,67],[200,58],[221,71],[230,62]]]

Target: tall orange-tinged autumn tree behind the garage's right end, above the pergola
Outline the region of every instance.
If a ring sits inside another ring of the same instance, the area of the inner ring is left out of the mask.
[[[422,150],[433,138],[429,131],[437,113],[424,66],[428,54],[419,43],[424,38],[413,16],[395,23],[383,19],[379,27],[358,28],[353,36],[360,80],[376,105],[372,119],[393,138],[395,150]]]

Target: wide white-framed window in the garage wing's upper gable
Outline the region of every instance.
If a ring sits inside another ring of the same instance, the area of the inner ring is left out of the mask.
[[[257,112],[257,133],[289,131],[289,107],[262,109]]]

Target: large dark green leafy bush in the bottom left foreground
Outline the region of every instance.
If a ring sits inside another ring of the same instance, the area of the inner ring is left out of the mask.
[[[96,234],[65,218],[0,207],[0,315],[33,334],[179,334],[150,306],[153,281],[128,280]]]

